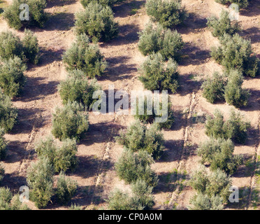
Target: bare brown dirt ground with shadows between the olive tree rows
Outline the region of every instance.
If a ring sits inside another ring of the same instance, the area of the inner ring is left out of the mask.
[[[8,1],[10,3],[10,0]],[[138,67],[145,57],[138,51],[137,32],[149,21],[145,13],[144,0],[127,0],[115,6],[115,20],[120,24],[120,35],[107,43],[100,43],[101,52],[109,62],[105,76],[99,78],[103,90],[114,85],[115,90],[140,90]],[[185,186],[199,158],[195,153],[198,144],[207,139],[203,121],[205,114],[215,109],[228,118],[233,106],[210,104],[201,96],[203,78],[214,71],[222,71],[222,66],[210,59],[210,48],[217,45],[206,27],[206,18],[219,15],[222,6],[214,0],[183,0],[189,18],[182,27],[177,27],[185,41],[184,57],[179,65],[180,90],[171,95],[176,121],[172,130],[164,131],[166,150],[161,160],[152,168],[159,176],[159,185],[154,189],[154,209],[187,209],[194,191]],[[251,38],[254,52],[260,57],[260,1],[252,1],[247,10],[240,13],[240,33]],[[34,145],[51,132],[52,113],[56,106],[62,106],[57,92],[60,80],[66,78],[62,63],[62,54],[69,48],[73,33],[74,13],[82,10],[79,1],[52,1],[46,11],[50,20],[44,29],[34,29],[41,47],[41,62],[29,66],[26,72],[27,84],[21,97],[13,104],[19,111],[19,123],[11,134],[6,134],[10,142],[8,157],[3,162],[6,176],[2,186],[8,186],[15,193],[26,184],[27,167],[36,160]],[[0,31],[8,28],[4,20],[0,21]],[[22,31],[15,31],[22,36]],[[250,104],[240,112],[250,120],[252,129],[245,145],[236,145],[235,153],[245,156],[245,165],[233,176],[233,185],[240,188],[240,203],[231,204],[227,209],[259,209],[260,188],[255,170],[259,169],[259,116],[260,116],[260,79],[246,78],[244,87],[252,92]],[[236,109],[236,111],[238,111]],[[89,131],[87,139],[78,145],[79,167],[68,174],[78,181],[78,192],[72,202],[85,209],[106,209],[104,199],[111,190],[127,190],[129,186],[120,181],[115,173],[114,164],[122,153],[122,146],[115,143],[114,137],[121,128],[126,128],[132,116],[96,116],[89,113]],[[36,209],[29,203],[31,209]],[[67,209],[51,204],[47,209]]]

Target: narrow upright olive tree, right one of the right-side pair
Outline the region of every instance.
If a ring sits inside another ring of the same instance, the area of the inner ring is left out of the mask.
[[[228,104],[236,107],[247,106],[250,92],[242,89],[243,75],[238,71],[229,73],[229,81],[225,87],[224,97]]]

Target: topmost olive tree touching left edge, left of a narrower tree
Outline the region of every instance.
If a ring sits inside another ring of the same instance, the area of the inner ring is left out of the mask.
[[[13,57],[20,57],[24,62],[24,52],[20,38],[11,31],[4,31],[0,34],[0,59],[8,60]]]

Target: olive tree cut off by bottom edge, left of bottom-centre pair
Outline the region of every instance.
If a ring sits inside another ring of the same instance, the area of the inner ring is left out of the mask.
[[[143,210],[142,205],[135,197],[123,193],[121,190],[115,190],[108,196],[109,210]]]

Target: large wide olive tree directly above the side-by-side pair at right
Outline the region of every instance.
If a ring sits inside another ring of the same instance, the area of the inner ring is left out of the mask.
[[[222,44],[218,48],[212,48],[210,55],[227,71],[238,69],[246,76],[254,77],[259,72],[259,59],[252,55],[251,41],[243,39],[238,34],[233,36],[224,34],[220,38]]]

